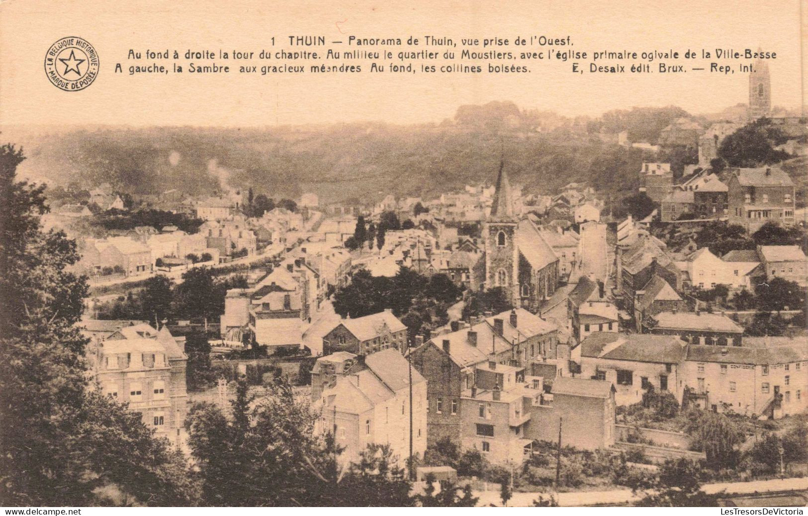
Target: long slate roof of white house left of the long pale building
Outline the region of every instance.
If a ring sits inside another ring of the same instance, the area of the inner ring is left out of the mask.
[[[581,356],[631,362],[679,363],[686,343],[675,335],[597,332],[581,342]]]

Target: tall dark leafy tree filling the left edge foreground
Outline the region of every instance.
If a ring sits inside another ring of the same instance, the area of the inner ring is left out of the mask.
[[[40,230],[44,187],[18,182],[23,154],[0,148],[0,503],[90,506],[114,487],[140,504],[191,505],[186,464],[141,415],[88,383],[86,279],[64,233]]]

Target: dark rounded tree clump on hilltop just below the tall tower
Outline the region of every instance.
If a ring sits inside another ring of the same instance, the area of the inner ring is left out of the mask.
[[[787,140],[781,130],[772,125],[772,120],[761,118],[726,136],[718,146],[718,157],[724,158],[729,166],[771,165],[788,159],[789,153],[774,149]]]

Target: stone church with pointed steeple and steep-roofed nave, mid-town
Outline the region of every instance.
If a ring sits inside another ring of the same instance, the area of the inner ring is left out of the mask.
[[[516,216],[511,182],[499,165],[494,203],[483,229],[486,288],[503,288],[515,307],[536,313],[558,286],[558,256],[536,224]]]

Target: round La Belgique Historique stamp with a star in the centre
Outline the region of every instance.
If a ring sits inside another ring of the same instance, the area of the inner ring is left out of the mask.
[[[60,90],[83,90],[98,77],[99,54],[82,38],[61,38],[45,54],[45,73]]]

